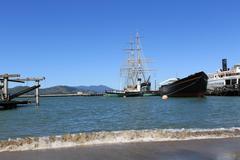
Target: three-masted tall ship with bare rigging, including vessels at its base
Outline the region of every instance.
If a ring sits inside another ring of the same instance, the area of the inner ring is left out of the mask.
[[[127,61],[120,70],[124,87],[122,90],[106,91],[106,95],[134,97],[154,94],[154,91],[150,91],[150,75],[147,73],[149,70],[146,69],[148,60],[143,57],[139,33],[136,34],[135,43],[130,40],[130,46],[126,52]]]

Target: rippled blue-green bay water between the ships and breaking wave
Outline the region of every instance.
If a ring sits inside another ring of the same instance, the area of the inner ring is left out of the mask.
[[[140,129],[240,127],[240,97],[55,97],[0,111],[0,139]]]

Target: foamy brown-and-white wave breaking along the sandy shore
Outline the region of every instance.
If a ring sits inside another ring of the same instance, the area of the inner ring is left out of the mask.
[[[81,145],[176,141],[240,137],[240,128],[217,129],[153,129],[91,132],[48,137],[26,137],[0,141],[0,152],[25,151]]]

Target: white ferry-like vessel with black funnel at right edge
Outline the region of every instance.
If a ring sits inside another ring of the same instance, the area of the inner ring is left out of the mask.
[[[228,68],[222,59],[222,69],[208,74],[207,94],[216,96],[240,96],[240,64]]]

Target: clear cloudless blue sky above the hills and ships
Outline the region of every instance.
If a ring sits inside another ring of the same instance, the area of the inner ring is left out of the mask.
[[[152,80],[240,63],[239,0],[1,0],[0,73],[119,88],[129,37],[142,35]]]

